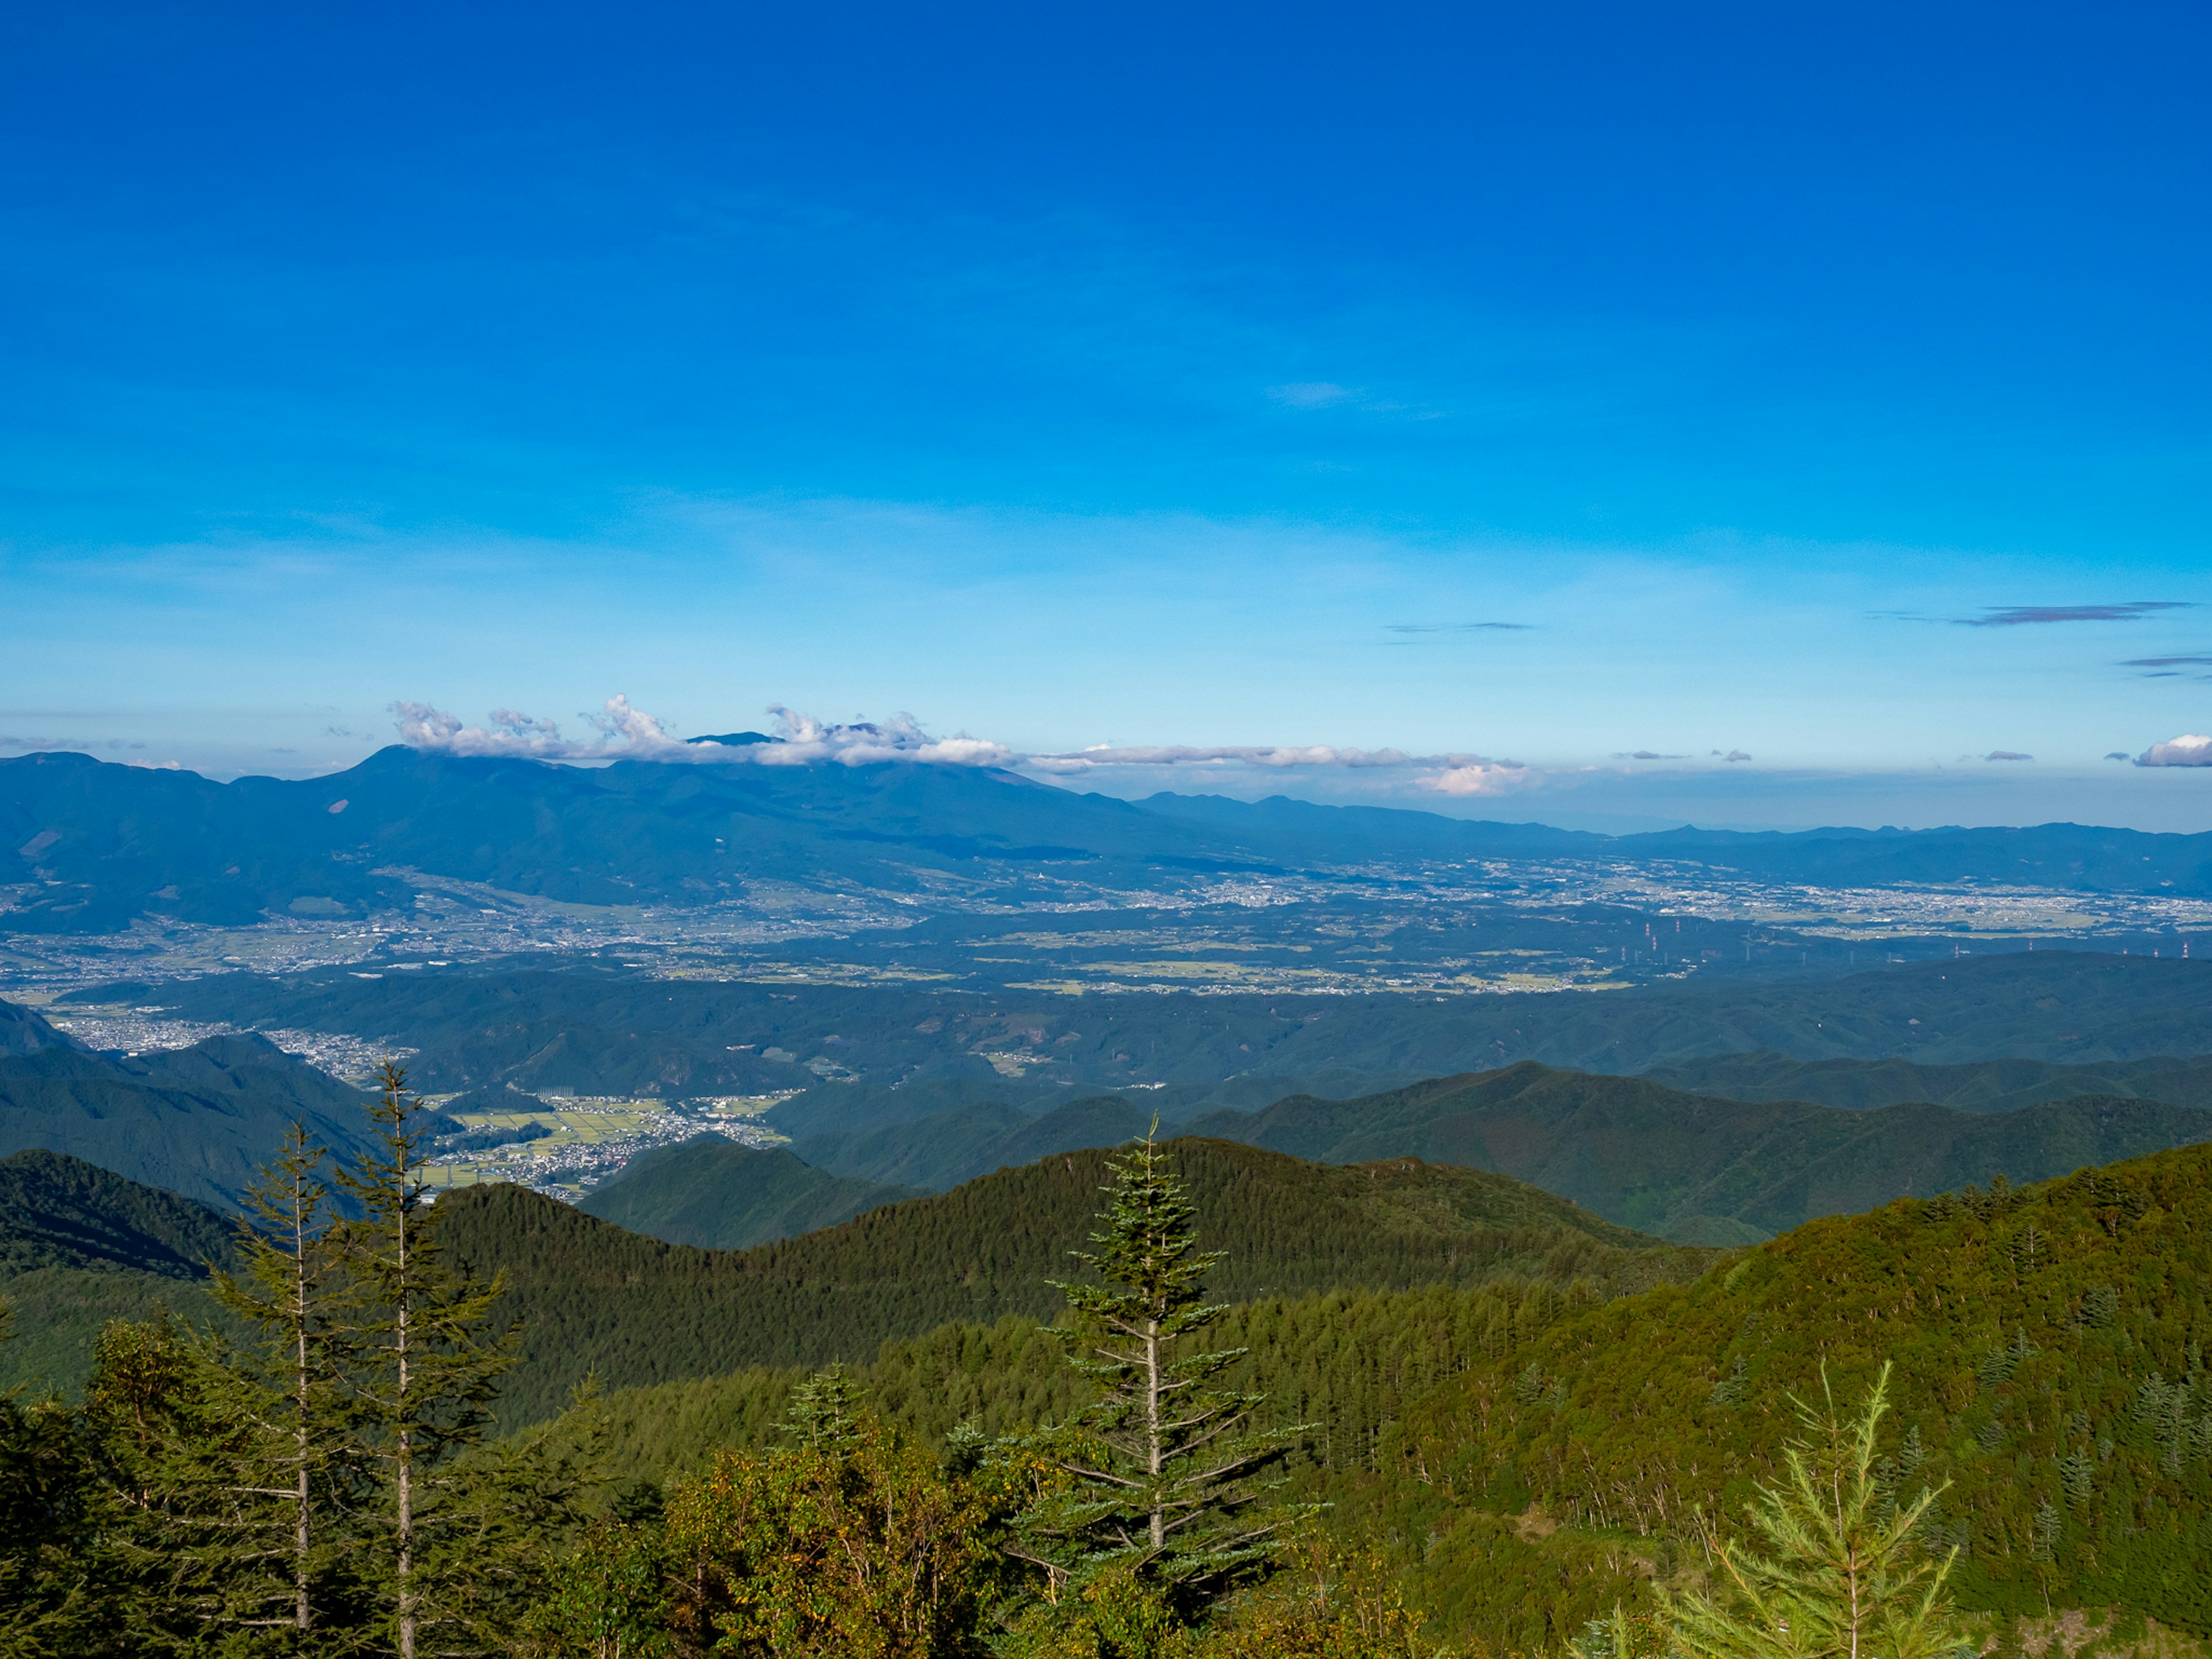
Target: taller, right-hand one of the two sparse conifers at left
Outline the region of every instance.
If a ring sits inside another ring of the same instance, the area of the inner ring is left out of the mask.
[[[438,1248],[422,1186],[422,1099],[396,1064],[376,1082],[369,1117],[380,1146],[361,1170],[338,1172],[361,1217],[341,1223],[334,1243],[356,1296],[345,1336],[356,1349],[358,1451],[378,1471],[365,1513],[376,1533],[369,1571],[394,1652],[416,1659],[431,1628],[440,1652],[493,1641],[467,1575],[487,1564],[493,1515],[478,1500],[495,1462],[465,1453],[489,1438],[515,1338],[493,1334],[500,1283],[453,1272]]]

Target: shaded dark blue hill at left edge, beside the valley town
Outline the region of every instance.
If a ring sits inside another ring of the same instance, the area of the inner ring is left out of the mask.
[[[234,1210],[292,1124],[345,1157],[365,1150],[363,1104],[259,1035],[137,1057],[49,1044],[0,1057],[0,1152],[66,1152]]]

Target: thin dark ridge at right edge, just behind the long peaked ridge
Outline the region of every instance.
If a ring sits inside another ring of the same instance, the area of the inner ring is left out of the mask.
[[[1655,1084],[1725,1099],[1809,1099],[1816,1106],[1869,1110],[1927,1102],[1962,1113],[2011,1113],[2022,1106],[2115,1095],[2168,1106],[2212,1108],[2212,1055],[2197,1060],[2115,1060],[2059,1066],[2044,1060],[1980,1060],[1929,1066],[1911,1060],[1792,1060],[1772,1048],[1712,1055],[1644,1073]]]

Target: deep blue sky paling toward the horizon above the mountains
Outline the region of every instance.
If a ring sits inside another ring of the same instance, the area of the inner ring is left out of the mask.
[[[2212,24],[1781,11],[9,9],[0,739],[2212,827]]]

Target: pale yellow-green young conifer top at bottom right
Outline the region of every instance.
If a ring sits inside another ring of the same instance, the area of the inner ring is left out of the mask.
[[[1792,1400],[1805,1438],[1785,1453],[1787,1478],[1759,1486],[1747,1520],[1767,1553],[1714,1535],[1721,1593],[1663,1597],[1681,1659],[1938,1659],[1960,1646],[1940,1564],[1913,1528],[1942,1489],[1882,1515],[1876,1438],[1889,1409],[1889,1367],[1845,1422],[1820,1371],[1818,1411]]]

